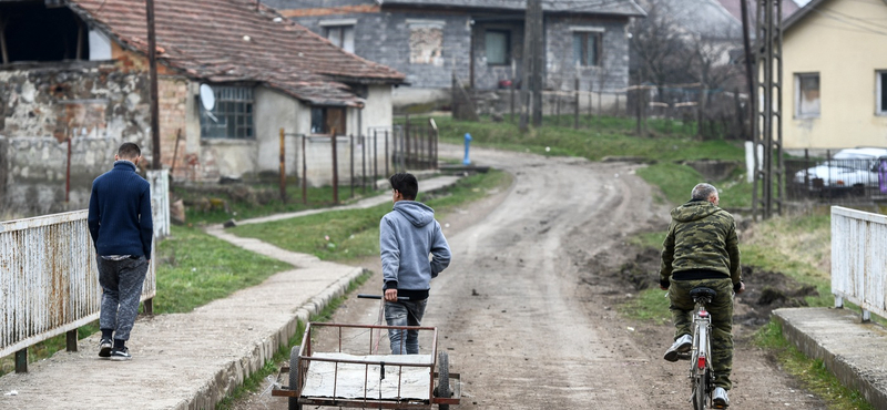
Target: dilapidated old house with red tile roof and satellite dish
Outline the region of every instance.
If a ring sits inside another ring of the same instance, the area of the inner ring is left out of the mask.
[[[154,4],[161,162],[176,181],[276,175],[281,129],[312,136],[318,164],[332,161],[333,129],[391,125],[396,70],[253,0]],[[82,207],[123,141],[152,163],[144,1],[0,0],[0,17],[2,199],[63,201],[70,155],[69,208]],[[300,143],[286,146],[296,175]],[[329,181],[332,166],[312,170],[309,183]]]

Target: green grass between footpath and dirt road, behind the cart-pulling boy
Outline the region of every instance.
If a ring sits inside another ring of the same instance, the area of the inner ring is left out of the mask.
[[[511,176],[491,170],[460,180],[443,193],[419,193],[437,213],[437,218],[493,189],[506,188]],[[281,248],[315,255],[324,260],[347,260],[379,254],[379,221],[391,204],[366,209],[333,211],[265,224],[242,225],[232,229],[238,236],[259,238]]]

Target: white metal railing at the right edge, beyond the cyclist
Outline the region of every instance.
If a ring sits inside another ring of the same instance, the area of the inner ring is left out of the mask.
[[[832,294],[887,317],[887,215],[832,207]]]

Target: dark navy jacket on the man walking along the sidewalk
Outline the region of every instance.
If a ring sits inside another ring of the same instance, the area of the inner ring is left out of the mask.
[[[135,164],[116,161],[111,171],[92,182],[86,221],[100,256],[151,258],[151,184],[135,173]]]

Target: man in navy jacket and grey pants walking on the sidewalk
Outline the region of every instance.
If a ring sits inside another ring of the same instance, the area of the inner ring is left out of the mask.
[[[90,196],[88,222],[102,286],[99,356],[111,360],[132,358],[125,342],[151,263],[151,185],[135,173],[141,160],[139,145],[123,143],[114,167],[93,181]]]

